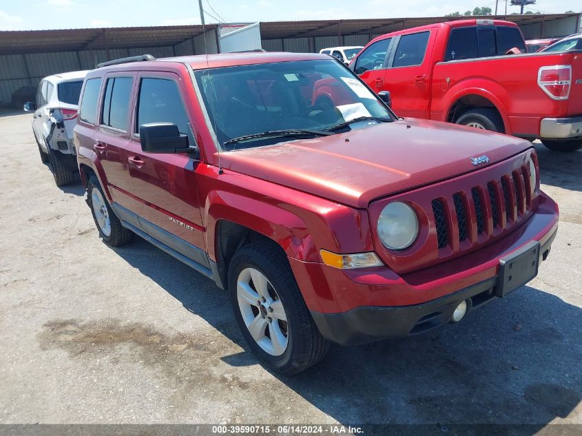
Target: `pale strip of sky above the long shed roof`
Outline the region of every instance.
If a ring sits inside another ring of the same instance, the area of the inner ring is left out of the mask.
[[[499,13],[505,12],[499,0]],[[489,6],[491,0],[202,0],[207,23],[440,17]],[[582,12],[580,0],[537,0],[532,12]],[[528,10],[526,9],[526,10]],[[508,6],[508,14],[519,12]],[[0,30],[199,24],[197,0],[0,0]]]

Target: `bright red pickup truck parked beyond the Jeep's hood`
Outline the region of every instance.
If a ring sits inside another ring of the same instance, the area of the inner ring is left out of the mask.
[[[582,147],[582,52],[526,53],[515,23],[461,20],[377,37],[350,68],[399,116]],[[508,54],[509,53],[509,54]]]

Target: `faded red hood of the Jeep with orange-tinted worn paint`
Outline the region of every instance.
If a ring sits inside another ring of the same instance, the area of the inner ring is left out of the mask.
[[[225,152],[220,159],[225,169],[364,208],[375,198],[472,172],[528,147],[503,134],[407,119]],[[471,158],[479,156],[489,163],[473,165]]]

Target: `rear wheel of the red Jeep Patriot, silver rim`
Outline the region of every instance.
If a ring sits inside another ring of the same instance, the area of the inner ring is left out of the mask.
[[[118,247],[132,240],[134,233],[121,225],[121,221],[105,200],[105,194],[95,176],[91,176],[87,183],[87,203],[103,242]]]

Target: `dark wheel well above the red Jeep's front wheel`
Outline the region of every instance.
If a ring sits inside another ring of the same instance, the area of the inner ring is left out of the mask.
[[[220,220],[218,222],[215,245],[217,271],[215,271],[215,273],[218,273],[220,283],[218,283],[218,281],[217,283],[220,287],[227,289],[229,264],[234,253],[236,253],[240,247],[258,241],[269,243],[273,246],[273,249],[279,250],[284,256],[287,256],[280,245],[257,231],[229,220]]]

